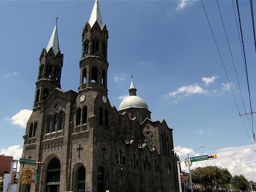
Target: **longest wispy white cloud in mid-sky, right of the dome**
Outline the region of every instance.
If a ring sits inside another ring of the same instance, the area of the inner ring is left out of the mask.
[[[207,94],[207,90],[204,90],[197,83],[195,83],[194,85],[190,84],[189,86],[180,87],[176,91],[170,92],[168,95],[176,97],[178,94],[183,94],[183,96],[192,94]]]

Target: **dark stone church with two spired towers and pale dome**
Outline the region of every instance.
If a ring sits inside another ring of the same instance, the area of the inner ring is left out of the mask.
[[[82,29],[78,92],[61,89],[63,54],[57,23],[42,49],[33,112],[22,158],[38,165],[40,182],[17,191],[179,191],[173,129],[154,121],[132,78],[119,108],[108,98],[108,39],[98,1]],[[20,164],[20,170],[25,167]]]

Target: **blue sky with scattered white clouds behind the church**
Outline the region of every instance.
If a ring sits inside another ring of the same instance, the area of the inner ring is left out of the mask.
[[[203,3],[243,114],[217,3]],[[48,45],[57,16],[60,50],[64,54],[61,88],[77,91],[81,32],[93,4],[94,1],[0,1],[1,154],[19,158],[22,153],[24,126],[34,101],[39,55]],[[133,74],[137,95],[147,102],[152,119],[165,119],[174,129],[176,150],[189,153],[203,144],[205,147],[193,156],[217,153],[216,160],[195,163],[194,167],[218,165],[231,170],[237,166],[232,174],[256,180],[256,143],[250,144],[252,130],[243,117],[247,134],[239,117],[201,2],[99,1],[99,6],[110,37],[108,96],[111,104],[118,108],[122,98],[128,95]],[[232,2],[219,1],[219,6],[249,112]],[[249,1],[239,1],[239,6],[255,111],[256,55]],[[183,169],[186,170],[184,166]]]

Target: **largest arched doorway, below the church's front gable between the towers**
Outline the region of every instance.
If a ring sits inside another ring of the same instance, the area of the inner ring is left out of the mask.
[[[53,158],[47,167],[46,192],[59,192],[60,161]]]

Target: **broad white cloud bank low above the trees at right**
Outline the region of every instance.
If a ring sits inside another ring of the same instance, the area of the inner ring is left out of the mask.
[[[175,150],[184,153],[192,152],[189,148],[182,148],[181,146],[175,147]],[[191,169],[197,168],[199,166],[205,167],[208,165],[219,166],[222,168],[227,168],[232,175],[244,175],[248,180],[255,179],[256,175],[256,158],[255,150],[252,145],[237,146],[237,147],[226,147],[216,150],[214,152],[209,152],[207,154],[216,153],[217,159],[193,162]],[[179,154],[181,160],[185,159],[185,155]],[[191,154],[191,157],[196,157],[205,154]],[[235,168],[236,167],[236,168]],[[183,171],[188,172],[188,167],[181,163],[181,168]]]

